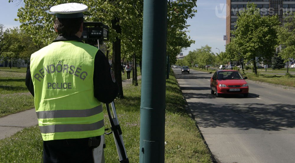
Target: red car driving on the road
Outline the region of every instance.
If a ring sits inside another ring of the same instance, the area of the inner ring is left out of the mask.
[[[218,70],[210,80],[211,94],[216,92],[216,97],[222,94],[243,94],[248,97],[249,86],[237,70]]]

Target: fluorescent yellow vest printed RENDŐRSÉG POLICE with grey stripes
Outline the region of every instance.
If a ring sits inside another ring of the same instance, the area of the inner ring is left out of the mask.
[[[35,109],[44,141],[104,134],[102,105],[94,97],[97,51],[82,42],[59,41],[32,54]]]

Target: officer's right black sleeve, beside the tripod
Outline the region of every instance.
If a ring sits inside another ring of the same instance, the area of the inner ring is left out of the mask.
[[[94,59],[94,97],[100,102],[111,103],[118,95],[119,86],[106,56],[99,50]],[[112,77],[113,76],[113,77]]]

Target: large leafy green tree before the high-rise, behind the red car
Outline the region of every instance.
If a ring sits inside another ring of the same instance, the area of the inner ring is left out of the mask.
[[[246,60],[252,61],[255,75],[257,75],[256,59],[263,61],[273,55],[277,45],[278,16],[261,16],[256,4],[247,4],[247,8],[240,12],[237,19],[235,35],[236,43],[240,47]]]

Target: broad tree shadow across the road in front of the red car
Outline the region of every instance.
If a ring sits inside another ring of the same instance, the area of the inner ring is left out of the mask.
[[[189,103],[191,113],[196,115],[199,126],[233,127],[240,130],[262,129],[265,131],[281,131],[284,128],[295,128],[294,112],[288,108],[295,105],[286,104],[210,104]],[[249,121],[251,123],[249,123]]]

